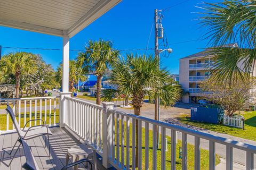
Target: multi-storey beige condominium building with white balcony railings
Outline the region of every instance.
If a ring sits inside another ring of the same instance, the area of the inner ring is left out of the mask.
[[[236,43],[225,45],[225,47],[238,47]],[[213,66],[212,56],[208,56],[209,48],[202,52],[180,58],[180,80],[184,93],[182,102],[184,103],[197,103],[198,99],[203,99],[207,92],[200,89],[202,81],[210,77],[207,71],[209,67]],[[243,67],[241,65],[241,67]]]

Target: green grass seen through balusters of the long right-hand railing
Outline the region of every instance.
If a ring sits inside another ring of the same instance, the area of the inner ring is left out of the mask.
[[[116,124],[116,123],[115,123]],[[120,125],[120,132],[121,132],[121,122],[119,123]],[[126,122],[124,122],[124,127],[126,127]],[[116,131],[115,131],[116,132]],[[125,164],[126,164],[126,128],[124,129],[124,156],[125,156]],[[168,151],[166,152],[166,169],[171,169],[171,137],[168,137],[166,134],[167,138],[167,148]],[[115,143],[116,143],[116,137],[115,137]],[[119,156],[121,160],[121,133],[119,133]],[[161,137],[160,137],[161,139]],[[130,165],[132,165],[132,124],[130,124]],[[181,141],[178,140],[178,144],[176,145],[176,169],[181,169],[181,159],[179,160],[179,147],[181,147]],[[188,143],[188,150],[187,150],[187,156],[188,156],[188,169],[194,169],[194,145],[190,145]],[[160,141],[160,146],[159,149],[157,150],[157,169],[161,169],[161,141]],[[216,165],[220,163],[220,156],[216,155]],[[153,169],[153,131],[149,130],[149,169]],[[142,169],[145,169],[145,128],[142,128]],[[201,169],[209,169],[209,151],[205,149],[201,149]]]

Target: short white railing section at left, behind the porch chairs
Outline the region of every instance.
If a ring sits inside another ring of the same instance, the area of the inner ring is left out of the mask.
[[[3,133],[14,130],[10,115],[5,111],[6,105],[12,106],[14,113],[18,114],[18,123],[23,128],[27,121],[36,118],[43,119],[45,124],[49,126],[57,125],[59,123],[56,118],[58,103],[58,97],[0,98],[0,116],[6,118],[6,128],[0,124],[0,131]],[[37,122],[42,124],[41,121],[29,122],[27,127],[37,125]]]

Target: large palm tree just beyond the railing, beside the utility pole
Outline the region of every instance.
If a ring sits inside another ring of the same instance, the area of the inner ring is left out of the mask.
[[[162,106],[171,106],[181,97],[179,85],[170,84],[170,74],[165,69],[158,70],[158,60],[146,55],[127,55],[126,60],[119,60],[113,65],[110,83],[117,89],[103,91],[103,100],[111,101],[114,96],[131,96],[134,114],[141,114],[143,99],[160,99]],[[136,122],[136,146],[138,146],[138,122]],[[138,165],[138,147],[136,148],[136,166]]]

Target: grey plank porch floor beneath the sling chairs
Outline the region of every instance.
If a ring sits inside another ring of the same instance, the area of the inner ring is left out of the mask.
[[[51,157],[48,157],[48,148],[45,148],[44,137],[27,140],[28,145],[31,147],[33,155],[40,169],[61,169],[66,163],[67,149],[71,146],[77,145],[80,142],[73,137],[66,129],[54,127],[50,128],[52,135],[50,136],[50,150]],[[17,133],[9,133],[0,135],[0,169],[22,169],[21,166],[26,162],[26,158],[21,147],[15,158],[13,159],[10,167],[11,156],[7,154],[11,150],[17,140]],[[7,152],[6,152],[7,151]],[[15,152],[15,149],[13,153]],[[12,154],[13,156],[13,154]],[[106,169],[102,166],[101,160],[98,158],[98,169]],[[71,162],[70,162],[71,163]],[[81,169],[83,169],[81,167]]]

